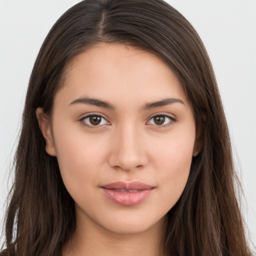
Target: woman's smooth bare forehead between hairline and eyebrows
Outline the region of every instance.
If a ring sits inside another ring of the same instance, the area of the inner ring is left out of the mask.
[[[81,96],[108,101],[118,96],[129,102],[168,96],[186,100],[177,76],[163,60],[146,50],[112,43],[97,44],[74,57],[59,93],[69,101]]]

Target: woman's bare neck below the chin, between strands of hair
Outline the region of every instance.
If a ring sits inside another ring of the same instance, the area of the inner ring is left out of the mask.
[[[78,217],[78,216],[77,216]],[[115,233],[86,219],[76,221],[72,238],[62,250],[63,256],[159,256],[166,217],[147,230],[136,233]]]

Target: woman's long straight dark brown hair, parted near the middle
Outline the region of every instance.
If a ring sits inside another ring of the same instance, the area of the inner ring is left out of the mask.
[[[98,42],[129,44],[156,54],[179,77],[193,107],[203,145],[192,159],[181,197],[168,212],[164,255],[251,255],[210,60],[191,24],[163,0],[84,0],[49,31],[27,89],[0,255],[59,255],[75,229],[74,201],[56,157],[45,152],[35,109],[51,112],[68,62]]]

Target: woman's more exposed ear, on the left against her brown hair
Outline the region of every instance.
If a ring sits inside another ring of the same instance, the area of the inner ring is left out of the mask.
[[[45,145],[46,152],[49,155],[56,156],[56,150],[55,150],[54,141],[52,137],[50,120],[48,116],[44,113],[41,107],[36,108],[35,114],[36,114],[36,118],[41,130],[41,133],[46,142],[46,145]]]

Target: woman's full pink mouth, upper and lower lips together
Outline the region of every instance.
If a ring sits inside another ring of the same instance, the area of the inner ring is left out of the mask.
[[[142,202],[147,196],[149,196],[153,191],[154,186],[139,181],[133,181],[130,183],[117,181],[102,185],[100,189],[113,202],[120,205],[131,206]],[[118,191],[120,189],[127,191]]]

